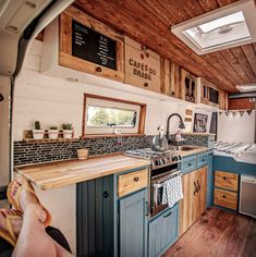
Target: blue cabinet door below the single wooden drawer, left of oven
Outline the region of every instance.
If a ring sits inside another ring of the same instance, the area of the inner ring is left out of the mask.
[[[147,189],[120,199],[120,256],[147,255]]]

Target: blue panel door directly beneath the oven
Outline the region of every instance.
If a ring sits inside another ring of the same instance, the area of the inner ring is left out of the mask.
[[[178,238],[178,205],[149,223],[148,256],[162,255]]]

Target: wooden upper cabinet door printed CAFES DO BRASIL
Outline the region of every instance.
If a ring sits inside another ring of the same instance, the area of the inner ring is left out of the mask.
[[[160,57],[145,46],[124,37],[125,83],[156,93],[160,88]]]

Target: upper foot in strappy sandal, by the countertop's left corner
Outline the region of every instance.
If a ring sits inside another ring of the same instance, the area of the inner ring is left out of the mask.
[[[23,179],[17,179],[12,187],[11,187],[11,195],[15,197],[15,194],[19,189],[19,187],[22,186],[24,183]],[[38,200],[34,194],[26,189],[22,189],[20,194],[20,206],[23,212],[25,213],[26,211],[33,211],[35,212],[36,217],[40,222],[44,222],[47,218],[46,211],[41,208],[41,206],[38,204]]]

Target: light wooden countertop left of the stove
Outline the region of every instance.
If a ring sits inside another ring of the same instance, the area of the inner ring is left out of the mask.
[[[150,162],[148,160],[114,155],[94,157],[87,160],[23,166],[16,167],[15,171],[45,191],[149,164]]]

